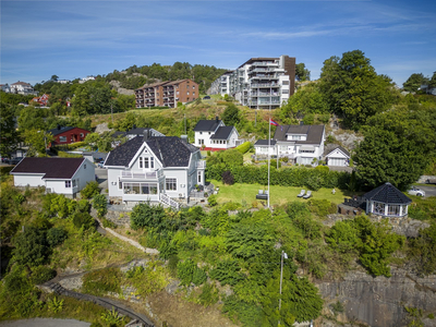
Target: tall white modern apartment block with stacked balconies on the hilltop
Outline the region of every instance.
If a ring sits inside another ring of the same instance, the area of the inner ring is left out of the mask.
[[[210,94],[230,95],[254,109],[274,109],[287,102],[295,88],[295,58],[251,58],[218,77]]]

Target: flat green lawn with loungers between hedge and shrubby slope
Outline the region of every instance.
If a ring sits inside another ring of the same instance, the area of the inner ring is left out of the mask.
[[[211,181],[215,186],[219,186],[218,192],[218,203],[226,202],[237,202],[246,205],[252,205],[256,201],[256,194],[259,190],[268,190],[268,186],[259,184],[240,184],[235,183],[233,185],[225,185],[222,182]],[[292,201],[306,201],[296,195],[303,187],[291,187],[291,186],[270,186],[270,205],[282,205]],[[307,189],[306,189],[307,191]],[[312,191],[312,196],[314,198],[325,198],[335,204],[340,204],[343,202],[346,195],[341,190],[336,189],[336,193],[331,194],[331,189],[320,189],[319,191]],[[264,201],[265,202],[265,201]],[[257,203],[262,201],[257,199]]]

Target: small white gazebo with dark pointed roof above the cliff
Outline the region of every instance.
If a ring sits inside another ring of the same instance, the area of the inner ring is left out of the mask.
[[[396,186],[387,182],[364,195],[366,214],[383,217],[403,217],[408,215],[408,206],[412,201]]]

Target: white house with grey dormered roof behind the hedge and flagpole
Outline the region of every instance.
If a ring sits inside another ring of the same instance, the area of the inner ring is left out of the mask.
[[[279,158],[288,157],[291,162],[317,166],[323,158],[324,125],[278,125],[270,143],[269,154]],[[261,140],[254,145],[257,157],[267,156],[268,141]],[[316,159],[316,160],[314,160]]]

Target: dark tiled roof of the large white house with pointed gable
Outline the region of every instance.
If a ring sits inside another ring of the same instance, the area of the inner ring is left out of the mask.
[[[177,136],[150,137],[147,141],[136,136],[110,152],[105,166],[128,167],[144,142],[164,167],[187,167],[191,154],[198,152],[197,147],[184,143]]]

